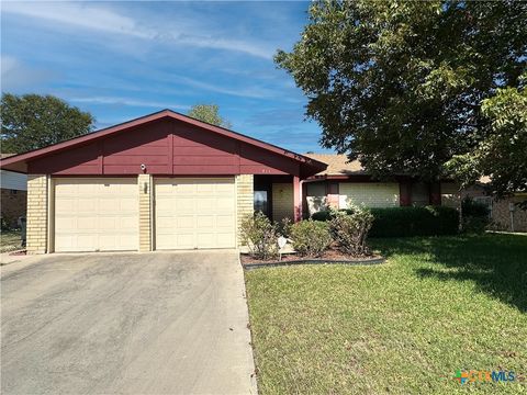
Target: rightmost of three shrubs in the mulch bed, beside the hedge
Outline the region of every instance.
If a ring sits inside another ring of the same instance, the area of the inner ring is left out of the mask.
[[[368,253],[366,237],[373,223],[373,215],[366,208],[336,212],[330,221],[332,234],[340,250],[352,256]]]

